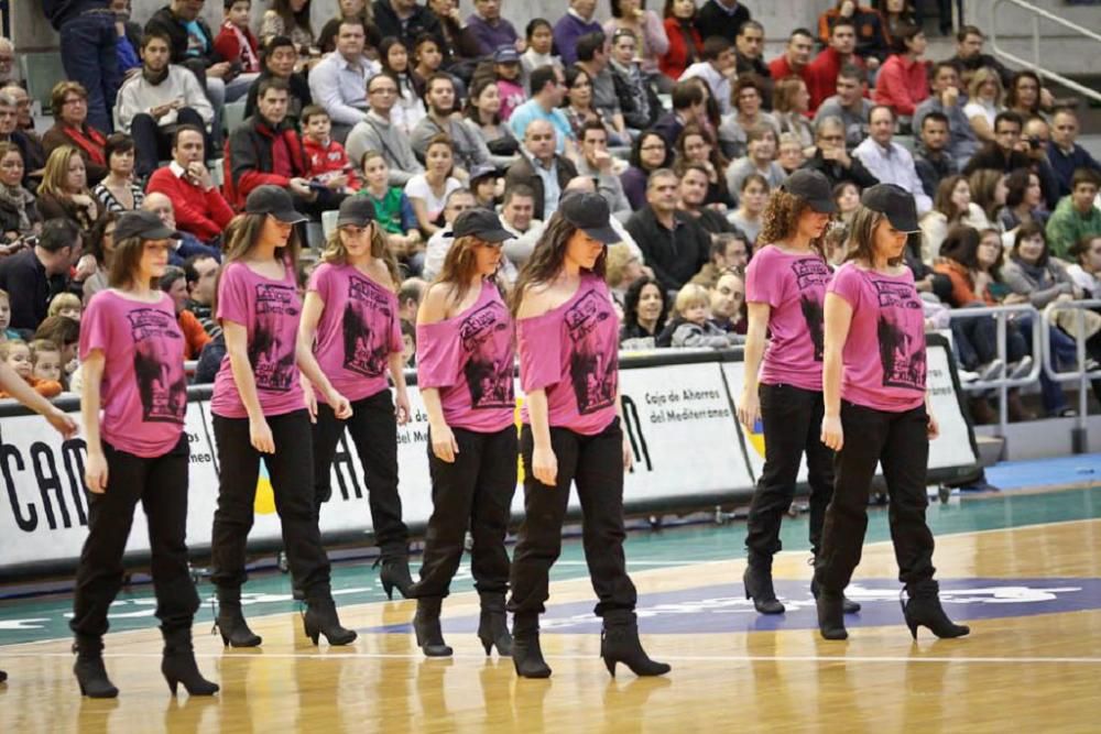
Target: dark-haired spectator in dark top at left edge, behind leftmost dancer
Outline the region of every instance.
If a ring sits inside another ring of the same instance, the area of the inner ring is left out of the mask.
[[[75,271],[74,265],[78,265]],[[81,258],[76,224],[67,219],[47,221],[34,247],[0,260],[0,289],[11,306],[9,328],[34,331],[53,297],[66,291],[80,293],[95,270],[92,258]]]

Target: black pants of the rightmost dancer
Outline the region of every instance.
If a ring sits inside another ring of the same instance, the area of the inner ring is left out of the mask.
[[[925,522],[929,499],[925,474],[929,461],[925,406],[886,413],[841,402],[844,445],[837,453],[833,500],[826,510],[818,582],[840,593],[860,563],[868,529],[868,494],[882,462],[891,504],[887,521],[898,561],[898,580],[909,585],[933,578],[933,532]]]

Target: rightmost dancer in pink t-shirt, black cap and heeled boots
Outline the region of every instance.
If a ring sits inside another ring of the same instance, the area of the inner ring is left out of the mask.
[[[864,190],[851,224],[847,262],[826,295],[822,443],[837,451],[833,499],[826,510],[818,582],[818,629],[846,639],[841,592],[860,562],[868,495],[882,463],[891,496],[891,539],[909,602],[911,634],[937,637],[970,629],[952,624],[933,580],[933,533],[925,471],[938,434],[926,392],[925,316],[914,274],[903,264],[906,235],[919,231],[914,197],[893,184]]]

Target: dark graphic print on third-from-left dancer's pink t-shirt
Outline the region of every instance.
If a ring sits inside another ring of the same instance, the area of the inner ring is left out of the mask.
[[[377,314],[374,329],[372,311]],[[378,377],[385,371],[393,318],[393,308],[382,288],[368,278],[349,276],[342,325],[346,370],[366,377]]]

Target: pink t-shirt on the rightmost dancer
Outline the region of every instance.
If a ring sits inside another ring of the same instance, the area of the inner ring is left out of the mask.
[[[902,413],[925,402],[925,311],[914,274],[883,275],[846,263],[829,292],[852,306],[841,397]]]

